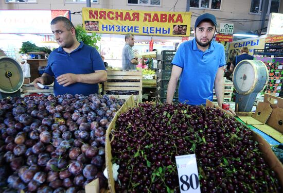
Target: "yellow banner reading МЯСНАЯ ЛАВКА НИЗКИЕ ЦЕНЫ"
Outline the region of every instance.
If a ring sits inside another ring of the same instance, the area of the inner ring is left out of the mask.
[[[186,37],[190,35],[190,19],[191,12],[82,8],[87,32]]]

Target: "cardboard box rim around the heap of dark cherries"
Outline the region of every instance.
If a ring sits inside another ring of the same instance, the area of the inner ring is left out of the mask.
[[[112,173],[112,154],[111,154],[111,141],[113,140],[113,136],[111,135],[112,129],[115,128],[115,122],[117,120],[117,117],[120,115],[120,113],[126,112],[129,108],[135,106],[135,101],[133,97],[131,96],[125,104],[120,108],[120,110],[116,113],[115,117],[111,121],[107,133],[106,133],[106,145],[105,145],[105,160],[106,160],[106,167],[107,167],[107,172],[108,172],[108,185],[110,192],[115,192],[115,181],[113,179],[113,173]],[[215,108],[215,105],[213,102],[208,101],[206,102],[206,107],[213,107]],[[216,107],[217,109],[220,109],[221,111],[232,115],[232,113],[227,112],[219,107]],[[233,116],[233,115],[232,115]],[[273,153],[271,150],[270,145],[257,133],[253,132],[253,139],[259,143],[259,149],[261,152],[263,152],[264,159],[267,161],[268,165],[270,168],[272,168],[275,173],[277,174],[278,180],[283,186],[283,165],[281,162],[277,159],[276,155]]]

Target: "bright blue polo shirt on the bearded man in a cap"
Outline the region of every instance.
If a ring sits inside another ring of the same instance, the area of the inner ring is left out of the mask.
[[[172,64],[183,68],[179,83],[179,102],[199,105],[213,100],[214,80],[218,68],[224,66],[224,46],[212,41],[204,52],[196,39],[180,45]]]

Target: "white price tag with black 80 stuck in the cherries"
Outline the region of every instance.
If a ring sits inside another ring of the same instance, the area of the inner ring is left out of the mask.
[[[181,192],[201,192],[196,154],[175,156]]]

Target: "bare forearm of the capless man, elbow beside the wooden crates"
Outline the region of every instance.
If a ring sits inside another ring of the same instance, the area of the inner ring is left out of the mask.
[[[107,81],[106,71],[99,71],[91,74],[79,74],[77,75],[78,82],[87,83],[87,84],[96,84],[99,82]]]

